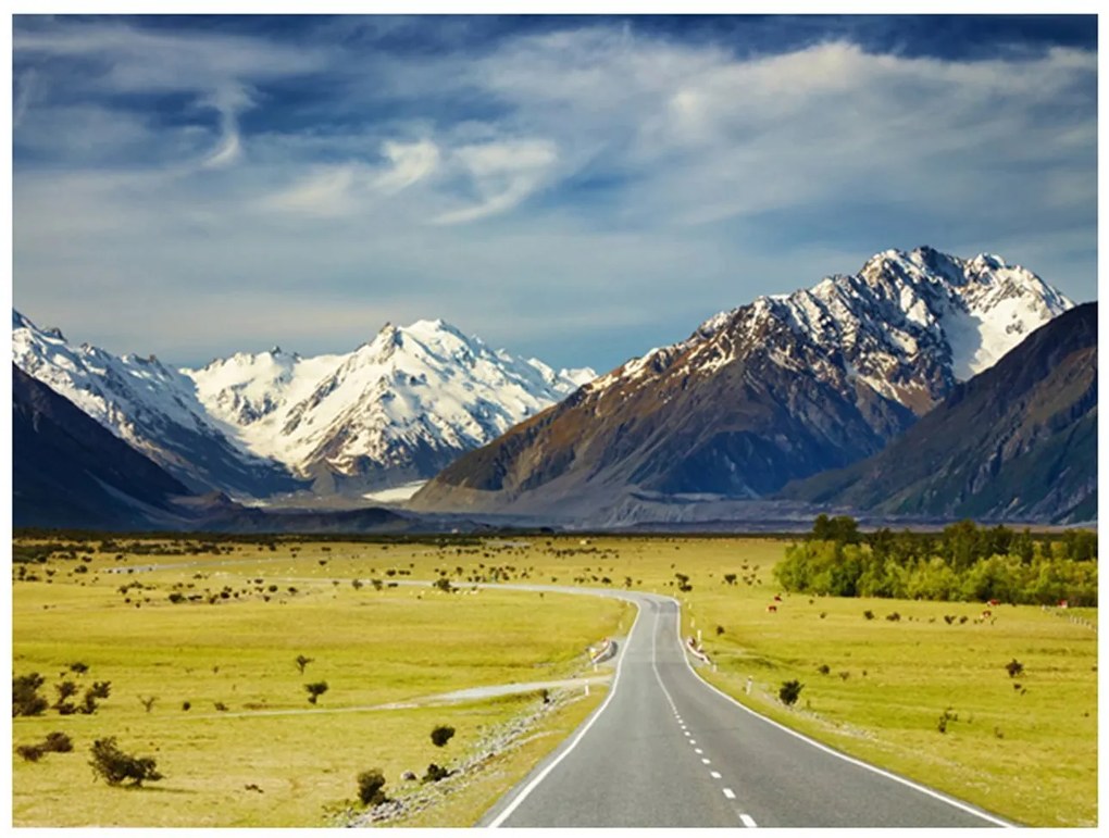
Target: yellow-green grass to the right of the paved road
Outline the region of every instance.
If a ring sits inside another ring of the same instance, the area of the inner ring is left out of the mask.
[[[845,753],[1015,821],[1097,824],[1091,628],[1035,606],[786,594],[770,573],[760,585],[726,585],[721,570],[742,576],[744,554],[736,561],[721,546],[691,544],[683,572],[693,590],[680,595],[684,633],[700,630],[716,663],[702,672],[708,681]],[[753,549],[749,564],[765,565],[765,549]],[[898,621],[886,619],[894,613]],[[1024,666],[1015,677],[1005,668],[1013,660]],[[804,688],[787,709],[777,693],[791,679]]]

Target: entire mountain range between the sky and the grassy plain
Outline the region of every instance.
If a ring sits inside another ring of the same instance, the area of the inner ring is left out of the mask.
[[[247,531],[750,525],[817,509],[1079,520],[1096,509],[1096,305],[1071,309],[999,256],[886,251],[601,377],[441,320],[386,325],[345,355],[275,347],[192,369],[73,347],[13,311],[17,510],[49,519],[35,504],[58,493],[82,522],[99,509]],[[120,478],[75,457],[75,477],[54,473],[74,439],[114,449],[45,394],[146,464],[123,458]],[[334,511],[428,478],[403,518]]]

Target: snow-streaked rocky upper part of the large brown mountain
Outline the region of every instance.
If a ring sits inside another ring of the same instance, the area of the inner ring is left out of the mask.
[[[1001,257],[970,259],[930,247],[885,251],[857,274],[825,277],[793,294],[755,298],[705,320],[680,344],[652,349],[589,385],[647,386],[678,358],[700,376],[764,348],[770,357],[817,377],[862,382],[917,415],[955,381],[991,367],[1027,335],[1074,303],[1042,279]],[[783,334],[775,327],[786,325]]]

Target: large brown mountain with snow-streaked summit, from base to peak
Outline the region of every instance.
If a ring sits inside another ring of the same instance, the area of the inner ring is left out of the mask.
[[[594,379],[414,505],[596,515],[629,497],[761,497],[879,450],[1072,305],[998,256],[886,251]]]

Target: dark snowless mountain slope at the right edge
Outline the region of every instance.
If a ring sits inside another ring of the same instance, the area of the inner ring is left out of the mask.
[[[1098,308],[1032,333],[881,453],[781,497],[898,515],[1097,517]]]

